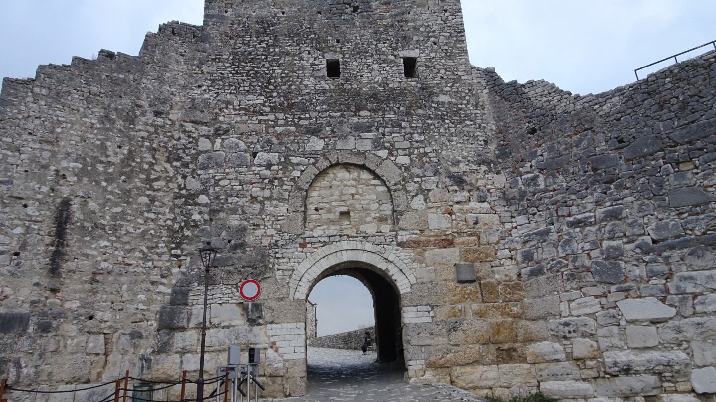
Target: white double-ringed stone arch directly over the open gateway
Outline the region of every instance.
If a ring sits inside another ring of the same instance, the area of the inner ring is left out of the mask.
[[[340,263],[367,263],[382,270],[402,294],[410,292],[416,283],[415,274],[395,253],[369,242],[343,240],[321,247],[303,260],[289,280],[291,299],[305,300],[316,278],[325,270]]]

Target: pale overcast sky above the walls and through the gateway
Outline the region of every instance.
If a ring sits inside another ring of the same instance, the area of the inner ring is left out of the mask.
[[[716,39],[714,0],[463,0],[463,10],[473,64],[579,94],[633,82],[635,68]],[[0,0],[0,77],[32,78],[39,64],[102,48],[135,55],[147,31],[202,24],[202,13],[203,0]],[[372,318],[368,295],[352,278],[316,285],[319,332],[363,324],[357,309]]]

